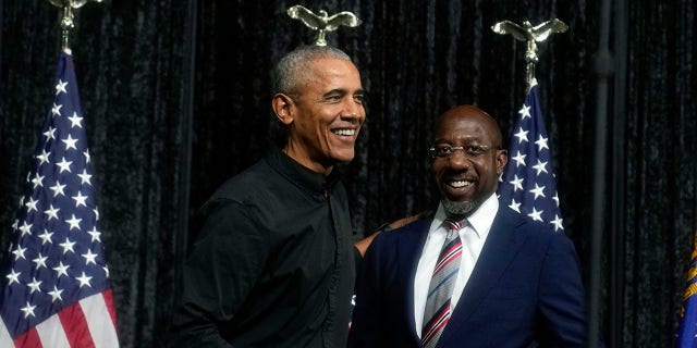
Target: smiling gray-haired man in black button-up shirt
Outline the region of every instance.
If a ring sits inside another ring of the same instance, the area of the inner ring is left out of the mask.
[[[345,347],[355,279],[346,191],[365,121],[360,76],[331,47],[277,66],[272,108],[286,140],[201,209],[173,318],[182,347]]]

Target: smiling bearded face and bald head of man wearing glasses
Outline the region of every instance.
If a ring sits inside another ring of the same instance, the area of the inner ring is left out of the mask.
[[[447,111],[435,129],[433,147],[464,147],[431,160],[431,174],[449,215],[466,216],[497,190],[508,161],[496,121],[472,105]],[[481,148],[479,148],[481,147]],[[481,149],[487,149],[481,151]]]

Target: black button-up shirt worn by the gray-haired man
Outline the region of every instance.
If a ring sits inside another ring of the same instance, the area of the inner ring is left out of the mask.
[[[325,177],[276,149],[200,213],[175,345],[345,347],[355,264],[335,169]]]

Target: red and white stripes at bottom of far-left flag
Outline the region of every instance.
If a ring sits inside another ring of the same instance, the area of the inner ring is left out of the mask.
[[[111,290],[86,297],[12,339],[0,321],[0,347],[115,348],[117,314]]]

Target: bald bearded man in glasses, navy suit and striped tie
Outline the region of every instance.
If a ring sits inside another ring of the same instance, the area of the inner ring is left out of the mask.
[[[366,251],[350,347],[585,346],[573,243],[499,207],[508,153],[496,120],[460,105],[439,117],[433,134],[440,203],[378,235]]]

